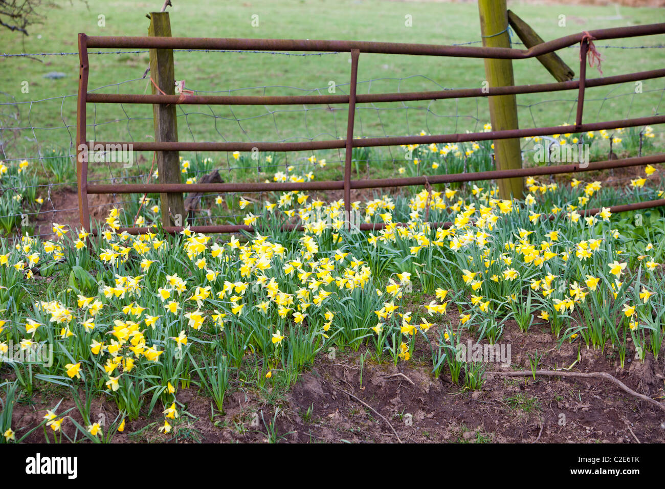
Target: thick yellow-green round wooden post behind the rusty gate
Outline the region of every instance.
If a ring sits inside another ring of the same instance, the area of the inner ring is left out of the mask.
[[[510,47],[506,0],[479,0],[480,31],[483,46]],[[511,86],[513,61],[511,59],[485,59],[485,77],[489,86]],[[494,95],[488,97],[489,117],[492,130],[517,129],[517,99],[515,95]],[[497,170],[522,168],[522,152],[519,138],[494,141],[494,155]],[[503,199],[521,199],[524,183],[521,178],[499,180],[499,196]]]

